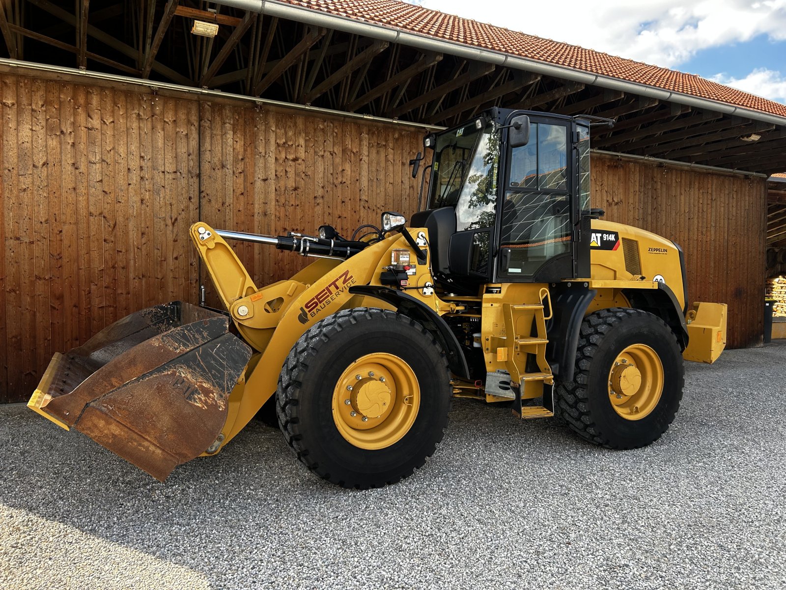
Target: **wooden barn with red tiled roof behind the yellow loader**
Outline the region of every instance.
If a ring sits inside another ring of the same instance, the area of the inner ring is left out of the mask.
[[[123,315],[196,303],[197,219],[411,216],[424,132],[492,105],[614,118],[593,207],[678,242],[690,300],[729,304],[729,346],[762,343],[784,105],[398,0],[66,5],[0,3],[0,402]],[[303,264],[238,248],[259,283]]]

